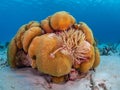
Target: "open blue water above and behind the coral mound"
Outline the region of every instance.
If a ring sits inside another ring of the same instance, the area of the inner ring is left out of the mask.
[[[63,10],[86,22],[98,41],[120,41],[120,0],[0,0],[0,42],[10,41],[21,25]]]

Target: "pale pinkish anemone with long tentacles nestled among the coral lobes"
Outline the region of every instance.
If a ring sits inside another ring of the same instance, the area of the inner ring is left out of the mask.
[[[74,63],[81,64],[88,57],[86,54],[90,51],[90,44],[85,40],[85,34],[81,30],[70,28],[67,31],[58,33],[63,45],[55,52],[61,51],[63,54],[70,55]]]

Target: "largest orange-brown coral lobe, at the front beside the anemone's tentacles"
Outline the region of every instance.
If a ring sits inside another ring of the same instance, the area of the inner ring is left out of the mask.
[[[53,33],[33,39],[28,53],[31,57],[36,57],[37,68],[40,72],[57,77],[70,72],[72,66],[70,57],[60,51],[54,54],[60,46],[59,38]]]

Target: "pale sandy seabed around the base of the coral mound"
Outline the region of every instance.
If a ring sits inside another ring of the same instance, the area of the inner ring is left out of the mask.
[[[6,53],[0,52],[0,58],[5,60]],[[92,80],[88,74],[81,80],[51,86],[50,89],[44,78],[32,68],[0,66],[0,90],[120,90],[120,56],[101,56],[101,63],[92,73]]]

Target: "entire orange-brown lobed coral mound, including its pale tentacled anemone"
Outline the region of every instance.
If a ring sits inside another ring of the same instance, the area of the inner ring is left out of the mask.
[[[50,76],[51,82],[76,80],[100,63],[92,30],[60,11],[40,23],[23,25],[11,40],[7,57],[12,68],[31,66]]]

